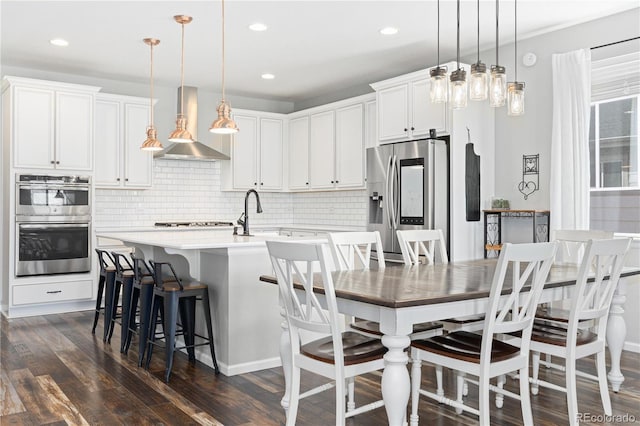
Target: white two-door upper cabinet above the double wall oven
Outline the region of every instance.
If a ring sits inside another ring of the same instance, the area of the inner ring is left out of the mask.
[[[6,77],[16,168],[93,170],[97,87]]]

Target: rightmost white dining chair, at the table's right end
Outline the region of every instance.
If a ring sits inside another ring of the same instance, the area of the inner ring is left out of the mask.
[[[565,392],[571,425],[578,424],[576,376],[598,382],[604,413],[612,415],[605,365],[605,337],[611,300],[630,245],[631,240],[627,238],[589,241],[571,298],[568,321],[562,324],[536,318],[533,325],[531,393],[538,394],[539,386]],[[592,271],[595,271],[595,278],[589,282]],[[580,325],[584,321],[593,321],[595,325],[589,329],[582,328]],[[539,379],[541,353],[564,358],[564,365],[544,362],[548,367],[564,371],[564,387]],[[591,355],[596,355],[597,376],[576,368],[578,359]],[[593,410],[593,407],[589,407],[589,410]]]

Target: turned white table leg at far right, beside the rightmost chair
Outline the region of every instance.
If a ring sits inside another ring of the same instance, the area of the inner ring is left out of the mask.
[[[621,278],[618,281],[615,293],[613,293],[609,320],[607,321],[607,346],[611,356],[611,370],[607,377],[614,392],[620,390],[620,385],[624,381],[624,376],[620,371],[620,357],[622,356],[624,339],[627,335],[627,325],[624,321],[624,303],[627,301],[625,286],[625,279]]]

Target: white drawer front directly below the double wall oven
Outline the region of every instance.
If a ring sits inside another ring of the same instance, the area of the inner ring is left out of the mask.
[[[12,288],[14,305],[68,302],[93,297],[91,280],[23,284],[14,285]]]

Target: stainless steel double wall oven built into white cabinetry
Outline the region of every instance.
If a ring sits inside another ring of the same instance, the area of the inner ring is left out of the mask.
[[[16,276],[91,270],[88,176],[16,176]]]

